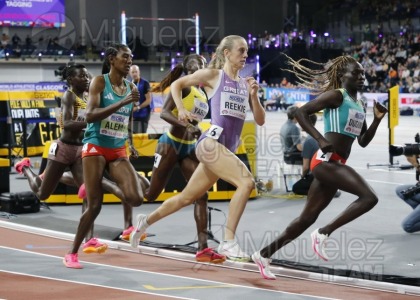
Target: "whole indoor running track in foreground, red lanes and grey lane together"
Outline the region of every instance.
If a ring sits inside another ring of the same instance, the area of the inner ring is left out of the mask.
[[[269,281],[256,270],[139,254],[122,242],[104,254],[80,253],[84,269],[68,269],[69,239],[9,224],[0,222],[0,299],[418,299],[281,275]]]

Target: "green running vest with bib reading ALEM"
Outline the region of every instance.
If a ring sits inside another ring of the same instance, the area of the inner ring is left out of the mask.
[[[114,92],[109,81],[109,74],[104,74],[105,88],[101,93],[101,102],[99,107],[107,107],[124,99],[131,93],[130,83],[124,80],[127,92],[124,95],[118,95]],[[128,137],[128,126],[133,103],[121,107],[107,118],[88,123],[84,144],[94,144],[105,148],[120,148],[125,145]]]

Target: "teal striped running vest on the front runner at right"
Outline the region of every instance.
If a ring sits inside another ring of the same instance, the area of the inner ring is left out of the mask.
[[[324,110],[324,129],[356,138],[362,131],[366,113],[360,100],[354,102],[345,89],[338,89],[343,95],[343,103],[337,108]]]

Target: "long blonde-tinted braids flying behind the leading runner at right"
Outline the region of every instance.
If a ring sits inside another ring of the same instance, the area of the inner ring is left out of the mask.
[[[292,67],[292,70],[285,71],[293,73],[300,81],[299,86],[311,90],[314,94],[339,89],[341,87],[340,77],[345,73],[347,66],[357,63],[356,59],[348,55],[336,57],[327,63],[317,63],[306,58],[295,61],[287,55],[286,57],[287,64]],[[306,67],[303,65],[305,62],[318,68]]]

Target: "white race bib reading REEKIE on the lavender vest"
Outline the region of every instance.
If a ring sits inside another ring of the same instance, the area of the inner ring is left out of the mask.
[[[248,97],[245,95],[222,92],[220,96],[220,115],[245,120],[247,103]]]

